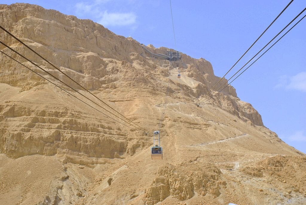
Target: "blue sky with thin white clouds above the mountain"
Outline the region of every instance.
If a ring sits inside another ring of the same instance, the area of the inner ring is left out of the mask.
[[[2,0],[2,4],[16,1]],[[143,44],[175,48],[167,0],[24,1],[101,23]],[[177,50],[211,62],[223,76],[289,3],[277,1],[172,0]],[[226,77],[229,78],[291,21],[306,1],[295,0]],[[306,13],[306,12],[304,12]],[[303,14],[304,15],[304,14]],[[306,153],[306,19],[232,85],[266,127]]]

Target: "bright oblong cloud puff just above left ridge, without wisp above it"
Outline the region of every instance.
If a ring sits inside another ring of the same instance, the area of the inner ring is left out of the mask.
[[[136,23],[136,15],[132,12],[130,13],[108,13],[104,11],[99,24],[104,26],[124,26],[132,25]]]

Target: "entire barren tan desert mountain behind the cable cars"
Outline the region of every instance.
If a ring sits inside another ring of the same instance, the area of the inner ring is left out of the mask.
[[[305,154],[232,86],[194,104],[220,79],[207,60],[151,58],[132,38],[37,5],[0,5],[0,14],[0,25],[149,131],[110,120],[1,54],[0,204],[306,203]],[[0,40],[99,103],[3,31]],[[160,161],[150,156],[155,129]]]

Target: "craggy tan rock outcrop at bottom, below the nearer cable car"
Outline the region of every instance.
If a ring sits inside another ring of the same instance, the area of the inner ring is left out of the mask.
[[[220,195],[220,186],[226,187],[220,169],[208,165],[203,167],[191,164],[173,166],[166,164],[159,168],[157,176],[145,192],[145,202],[152,205],[168,196],[180,201],[190,199],[195,192],[213,197]]]

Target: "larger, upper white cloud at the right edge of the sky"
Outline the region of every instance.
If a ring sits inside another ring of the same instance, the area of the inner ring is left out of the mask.
[[[295,89],[306,92],[306,72],[300,72],[294,76],[283,75],[278,78],[275,88]]]

